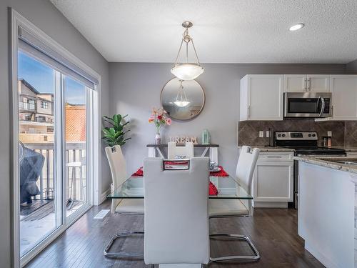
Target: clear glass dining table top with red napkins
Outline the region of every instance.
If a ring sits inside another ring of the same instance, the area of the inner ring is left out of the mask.
[[[209,179],[218,189],[218,194],[210,195],[210,199],[253,199],[231,176],[210,176]],[[144,199],[144,177],[130,177],[106,197],[109,199]]]

